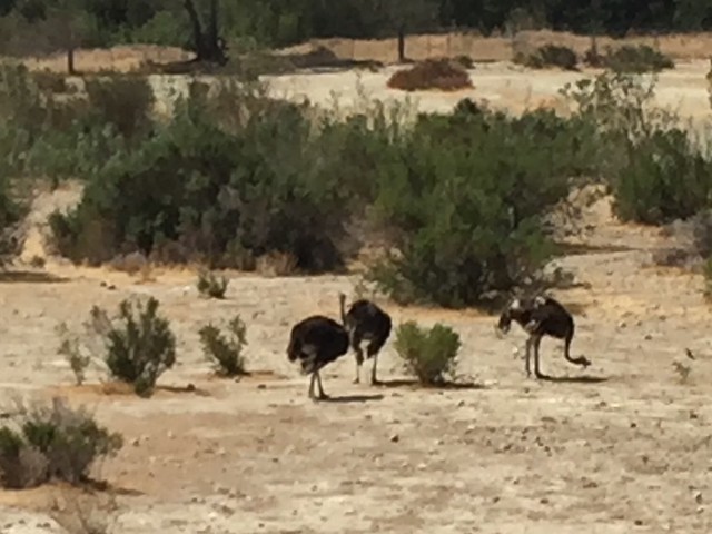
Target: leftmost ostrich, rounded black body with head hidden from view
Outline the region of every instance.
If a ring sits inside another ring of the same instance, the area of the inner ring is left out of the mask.
[[[299,359],[301,372],[312,374],[309,398],[313,400],[328,398],[322,387],[319,370],[348,352],[348,334],[334,319],[323,315],[313,315],[300,320],[291,328],[287,357],[289,362]],[[314,396],[314,383],[319,383],[319,395]]]

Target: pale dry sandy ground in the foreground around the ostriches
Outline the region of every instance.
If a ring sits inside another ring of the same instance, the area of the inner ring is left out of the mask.
[[[500,93],[484,72],[475,91]],[[570,76],[511,72],[513,92],[503,98],[520,106],[523,80],[540,88],[547,76]],[[685,72],[669,75],[670,96],[695,95],[690,109],[703,117],[704,78]],[[314,86],[323,89],[326,79]],[[76,192],[40,196],[31,224]],[[702,279],[647,267],[663,238],[617,224],[607,199],[583,218],[594,228],[586,246],[557,260],[582,285],[555,295],[576,310],[574,354],[593,365],[570,366],[561,345],[546,340],[543,370],[556,382],[525,378],[513,354],[524,343],[517,327],[498,339],[496,319],[474,310],[382,301],[396,323],[456,328],[461,372],[478,387],[413,387],[389,343],[379,362],[385,386],[352,384],[348,356],[324,376],[336,402],[313,404],[307,379],[285,355],[289,327],[307,314],[335,316],[337,293],[352,293],[354,277],[230,274],[227,299],[216,301],[198,297],[194,273],[156,270],[154,281],[141,281],[48,257],[42,275],[0,279],[0,398],[61,394],[123,433],[125,449],[96,473],[117,493],[113,532],[712,532],[712,316]],[[23,257],[47,256],[39,229],[31,235]],[[164,388],[151,399],[106,395],[97,374],[88,386],[71,386],[56,325],[77,325],[92,305],[113,308],[135,294],[158,297],[179,337],[180,362],[161,377]],[[235,313],[248,322],[248,366],[259,373],[220,380],[210,376],[197,330]],[[675,360],[691,366],[686,383]],[[197,390],[181,393],[187,384]],[[55,500],[109,517],[99,497],[79,496],[62,486],[0,492],[0,532],[62,532],[49,516]]]

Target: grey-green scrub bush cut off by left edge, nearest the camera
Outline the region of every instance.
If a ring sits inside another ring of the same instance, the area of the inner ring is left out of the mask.
[[[120,434],[100,426],[83,407],[72,408],[61,398],[53,398],[48,406],[20,406],[0,427],[0,483],[19,490],[51,479],[87,482],[91,465],[115,455],[122,445]]]

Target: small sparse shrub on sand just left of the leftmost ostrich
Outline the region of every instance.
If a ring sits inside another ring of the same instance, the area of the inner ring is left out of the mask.
[[[212,324],[200,328],[200,344],[206,358],[215,366],[221,376],[238,376],[246,374],[243,350],[247,345],[247,325],[236,315],[228,324],[226,333]]]

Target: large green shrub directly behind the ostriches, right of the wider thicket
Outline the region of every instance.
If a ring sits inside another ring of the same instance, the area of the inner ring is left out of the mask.
[[[379,180],[397,253],[368,279],[398,303],[459,307],[533,276],[553,251],[542,216],[567,195],[575,142],[548,112],[421,117]]]

